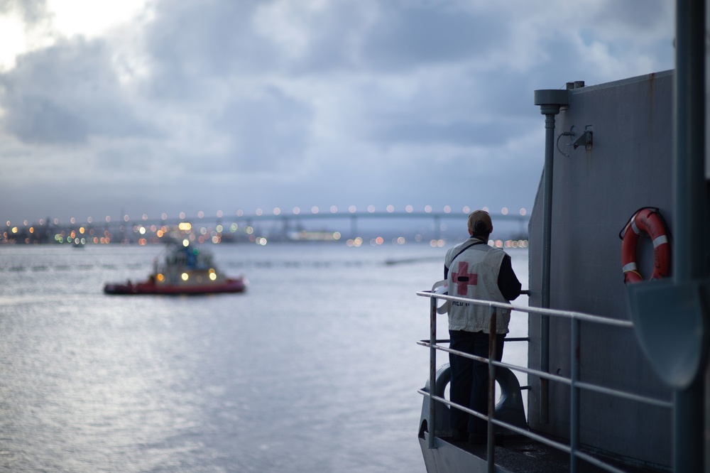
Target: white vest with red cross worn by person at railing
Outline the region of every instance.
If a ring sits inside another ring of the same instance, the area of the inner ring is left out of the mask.
[[[508,303],[498,288],[498,273],[506,253],[484,243],[475,244],[459,254],[473,241],[475,239],[468,239],[447,252],[445,264],[449,268],[449,295]],[[488,306],[452,301],[449,330],[488,333],[490,314]],[[508,333],[509,322],[510,310],[496,308],[496,333]]]

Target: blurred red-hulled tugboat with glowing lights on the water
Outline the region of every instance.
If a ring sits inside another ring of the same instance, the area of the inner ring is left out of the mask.
[[[104,293],[200,295],[241,293],[246,290],[244,276],[227,278],[217,269],[212,254],[192,246],[187,239],[182,244],[171,243],[153,263],[153,273],[147,281],[107,283]]]

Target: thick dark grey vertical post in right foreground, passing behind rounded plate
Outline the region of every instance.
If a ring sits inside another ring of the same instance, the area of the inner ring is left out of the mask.
[[[707,277],[705,175],[705,1],[676,1],[674,83],[673,278],[683,284]],[[701,252],[701,253],[699,253]],[[673,467],[704,467],[704,370],[674,391]]]

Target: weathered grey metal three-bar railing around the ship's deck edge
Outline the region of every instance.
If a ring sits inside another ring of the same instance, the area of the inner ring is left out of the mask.
[[[589,462],[591,464],[594,464],[596,467],[599,467],[601,469],[605,469],[608,472],[623,472],[623,470],[618,469],[617,467],[614,467],[611,464],[605,463],[602,460],[599,460],[596,457],[593,457],[586,452],[583,452],[579,450],[579,391],[580,389],[585,389],[587,391],[594,391],[596,393],[602,393],[606,394],[608,396],[616,396],[618,398],[624,398],[630,401],[635,401],[635,402],[640,402],[640,403],[647,403],[652,406],[658,406],[658,407],[664,407],[664,408],[672,408],[673,403],[670,401],[663,401],[662,399],[657,399],[657,398],[651,398],[648,396],[642,396],[639,394],[635,393],[629,393],[627,391],[621,391],[615,388],[608,388],[605,386],[599,386],[596,384],[590,384],[586,382],[579,381],[579,322],[584,321],[584,322],[594,322],[594,323],[599,323],[601,325],[608,325],[611,327],[620,327],[620,328],[627,328],[627,329],[633,329],[633,322],[630,320],[618,320],[618,319],[612,319],[609,317],[601,317],[599,315],[590,315],[586,314],[584,312],[577,312],[577,311],[572,311],[572,310],[557,310],[557,309],[547,309],[547,308],[531,308],[531,307],[523,307],[520,305],[513,305],[513,304],[508,304],[508,303],[498,303],[498,302],[493,302],[491,300],[480,300],[480,299],[471,299],[471,298],[463,298],[459,296],[454,296],[454,295],[444,295],[444,294],[436,294],[432,293],[431,291],[420,291],[417,292],[417,295],[420,295],[422,297],[428,297],[430,298],[430,341],[427,342],[425,340],[422,340],[420,342],[417,342],[417,344],[420,344],[424,347],[429,347],[430,349],[430,383],[429,383],[429,392],[427,393],[426,391],[423,390],[418,390],[420,394],[427,396],[430,399],[429,402],[429,425],[430,425],[430,433],[429,433],[429,443],[428,446],[429,448],[434,448],[435,447],[435,402],[443,403],[449,408],[458,408],[461,411],[464,411],[466,413],[469,413],[471,415],[475,415],[476,417],[479,417],[484,420],[488,420],[488,471],[493,472],[495,469],[495,458],[494,458],[494,449],[493,449],[493,425],[499,425],[503,428],[506,428],[508,430],[511,430],[515,433],[518,433],[520,435],[524,435],[525,437],[528,437],[532,440],[535,440],[537,442],[542,442],[545,445],[549,445],[550,447],[556,448],[557,450],[561,450],[562,452],[569,453],[570,455],[570,461],[569,461],[569,471],[570,472],[577,472],[577,458],[580,458],[582,460],[585,460],[586,462]],[[454,301],[454,302],[462,302],[462,303],[469,303],[469,304],[474,304],[474,305],[482,305],[482,306],[487,306],[491,310],[491,330],[489,330],[491,334],[491,340],[489,343],[489,354],[488,358],[484,357],[478,357],[476,355],[472,354],[467,354],[464,352],[459,352],[458,350],[451,349],[449,347],[442,347],[441,345],[437,344],[438,342],[445,342],[447,340],[439,340],[437,339],[437,300],[449,300],[449,301]],[[491,356],[491,347],[492,344],[495,342],[495,330],[493,330],[494,321],[496,318],[496,309],[501,308],[501,309],[508,309],[511,311],[517,311],[517,312],[527,312],[527,313],[533,313],[537,315],[543,315],[543,316],[550,316],[550,317],[562,317],[569,319],[571,321],[570,324],[570,330],[572,332],[572,337],[571,337],[571,357],[572,357],[572,363],[571,365],[571,376],[569,378],[565,376],[559,376],[557,374],[550,374],[545,371],[540,371],[536,369],[530,369],[526,366],[520,366],[520,365],[514,365],[514,364],[508,364],[508,363],[503,363],[502,361],[495,361],[493,360]],[[497,420],[493,418],[493,413],[494,413],[494,402],[492,401],[492,394],[489,395],[488,398],[488,415],[484,415],[481,413],[478,413],[476,411],[472,411],[470,408],[466,408],[465,406],[461,406],[457,403],[452,403],[450,401],[447,401],[444,398],[441,398],[439,396],[435,396],[433,393],[435,392],[435,386],[436,386],[436,352],[437,350],[442,351],[442,352],[447,352],[450,354],[457,354],[461,357],[466,357],[469,359],[474,359],[476,361],[483,361],[485,363],[488,363],[489,366],[489,373],[491,374],[490,380],[489,380],[489,391],[493,390],[493,386],[495,386],[496,382],[496,376],[495,376],[495,367],[500,366],[503,368],[508,368],[513,371],[520,371],[532,376],[537,376],[540,379],[548,379],[550,381],[556,381],[562,384],[567,384],[570,388],[570,408],[571,408],[571,415],[570,415],[570,432],[569,432],[569,438],[570,442],[569,445],[565,445],[564,443],[560,442],[555,442],[554,440],[550,440],[546,437],[542,437],[542,435],[537,435],[535,433],[532,433],[528,430],[524,430],[521,428],[516,427],[515,425],[511,425],[505,422],[502,422],[501,420]]]

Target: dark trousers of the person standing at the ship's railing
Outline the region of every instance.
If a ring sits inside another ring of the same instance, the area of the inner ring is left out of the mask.
[[[503,340],[505,334],[496,335],[496,353],[493,359],[503,359]],[[452,349],[488,358],[488,334],[484,332],[466,332],[449,330]],[[451,385],[449,398],[452,402],[467,406],[484,415],[488,413],[488,364],[481,361],[460,357],[449,353],[451,365]],[[486,436],[486,421],[469,415],[457,408],[451,408],[451,427],[458,435],[468,432],[476,436]]]

